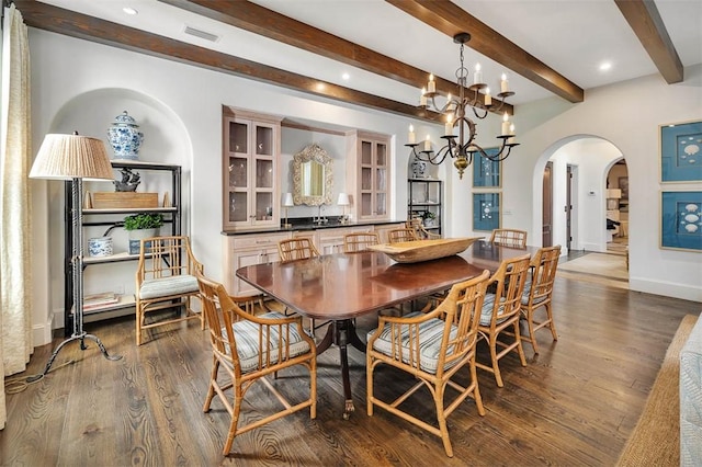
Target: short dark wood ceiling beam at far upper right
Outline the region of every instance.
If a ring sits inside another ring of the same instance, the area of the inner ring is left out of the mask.
[[[683,69],[653,0],[614,0],[668,84],[683,80]]]

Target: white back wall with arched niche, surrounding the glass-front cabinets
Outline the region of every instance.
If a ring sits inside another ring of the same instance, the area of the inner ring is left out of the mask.
[[[222,280],[222,105],[231,105],[295,119],[331,123],[338,127],[365,129],[392,136],[392,176],[401,180],[400,192],[390,206],[390,215],[406,217],[405,190],[408,152],[401,145],[414,123],[422,134],[431,132],[437,140],[442,128],[426,126],[388,113],[342,105],[329,100],[310,100],[307,95],[216,71],[135,54],[118,48],[30,29],[32,57],[33,144],[38,149],[47,133],[69,133],[105,140],[111,122],[122,111],[129,112],[144,133],[141,160],[183,166],[184,232],[193,240],[193,250],[205,264],[207,274]],[[291,137],[284,146],[284,161],[302,149],[304,137]],[[397,143],[399,135],[399,141]],[[327,135],[328,136],[328,135]],[[310,133],[306,143],[332,141],[325,134]],[[327,138],[327,139],[325,139]],[[293,146],[291,146],[293,145]],[[397,146],[400,146],[397,149]],[[335,159],[337,143],[331,143]],[[109,148],[107,144],[107,148]],[[343,176],[344,164],[335,160],[335,171]],[[285,176],[285,173],[284,173]],[[346,186],[339,180],[335,193]],[[48,218],[38,225],[36,251],[46,251],[44,267],[37,267],[34,289],[39,297],[49,296],[49,309],[36,309],[33,321],[44,328],[53,316],[54,327],[63,324],[63,187],[57,182],[36,182],[36,210],[48,205]],[[44,195],[42,190],[46,189]],[[107,184],[106,191],[111,190]],[[287,190],[283,187],[283,190]],[[305,209],[305,208],[299,208]],[[333,214],[329,208],[327,214]],[[309,215],[308,212],[297,213]],[[315,213],[316,214],[316,213]],[[295,215],[291,210],[291,215]],[[50,226],[50,228],[47,228]],[[46,237],[42,238],[42,232]],[[117,241],[117,239],[115,239]],[[87,270],[89,283],[99,276],[98,267]],[[94,271],[90,271],[94,270]],[[132,271],[129,271],[132,270]],[[111,270],[112,271],[112,270]],[[117,266],[125,292],[134,291],[133,265]],[[41,301],[39,301],[41,303]],[[37,334],[38,335],[38,334]],[[47,335],[47,333],[45,333]],[[39,342],[43,344],[46,342]]]

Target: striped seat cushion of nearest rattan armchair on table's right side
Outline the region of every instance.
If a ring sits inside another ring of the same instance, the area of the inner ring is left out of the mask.
[[[421,311],[414,311],[405,315],[403,318],[412,318],[423,315]],[[445,321],[432,318],[419,324],[419,368],[423,372],[435,374],[439,361],[439,352],[441,351],[441,339],[443,337]],[[367,340],[375,333],[375,329],[367,333]],[[456,335],[455,326],[451,327],[450,338]],[[403,326],[401,331],[403,362],[409,363],[409,327]],[[390,324],[385,324],[381,335],[373,342],[373,350],[387,356],[393,356],[393,342],[390,340]],[[449,350],[448,356],[451,355]],[[454,361],[444,369],[450,368],[456,363]]]

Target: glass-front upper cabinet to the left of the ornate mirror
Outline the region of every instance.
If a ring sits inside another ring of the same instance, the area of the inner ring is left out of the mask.
[[[279,226],[280,117],[223,107],[223,229]]]

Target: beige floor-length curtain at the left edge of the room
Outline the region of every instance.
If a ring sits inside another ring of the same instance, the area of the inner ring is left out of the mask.
[[[32,353],[30,47],[22,14],[4,9],[0,129],[0,375],[26,369]],[[7,421],[0,392],[0,429]]]

